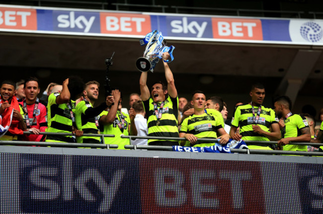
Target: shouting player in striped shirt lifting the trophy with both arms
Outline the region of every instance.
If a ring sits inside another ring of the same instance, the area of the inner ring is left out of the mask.
[[[163,53],[163,60],[169,58],[167,52]],[[174,77],[168,64],[163,62],[167,86],[161,81],[156,82],[151,92],[147,86],[147,72],[142,72],[140,77],[141,98],[144,103],[148,136],[149,137],[179,137],[178,96],[174,84]],[[149,145],[178,145],[178,141],[148,140]]]

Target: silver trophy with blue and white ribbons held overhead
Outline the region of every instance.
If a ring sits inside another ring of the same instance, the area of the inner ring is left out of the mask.
[[[175,47],[167,47],[166,41],[158,30],[148,33],[144,39],[140,40],[140,45],[146,45],[146,49],[144,57],[140,57],[136,61],[136,67],[139,71],[153,72],[156,64],[162,59],[162,53],[164,52],[168,52],[170,55],[170,60],[164,60],[165,63],[169,63],[174,59],[172,53]]]

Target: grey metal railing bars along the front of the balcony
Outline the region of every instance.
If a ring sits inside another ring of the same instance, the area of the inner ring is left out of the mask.
[[[23,132],[23,134],[30,135],[31,132]],[[49,133],[40,132],[39,135],[51,135],[51,136],[75,136],[72,133]],[[29,142],[29,141],[0,141],[0,145],[36,145],[36,146],[53,146],[53,147],[89,147],[89,148],[118,148],[116,144],[106,144],[104,137],[114,138],[115,135],[106,134],[83,134],[83,136],[100,137],[102,143],[56,143],[56,142]],[[153,139],[153,140],[165,140],[165,141],[186,141],[185,138],[166,138],[166,137],[148,137],[148,136],[120,136],[123,139],[135,140],[135,139]],[[218,143],[218,139],[200,138],[197,142],[212,142]],[[276,141],[244,141],[245,143],[257,143],[264,145],[277,144]],[[311,145],[311,146],[323,146],[323,143],[289,143],[291,145]],[[147,150],[172,150],[172,146],[158,146],[158,145],[125,145],[125,149],[147,149]],[[289,154],[289,155],[304,155],[304,156],[323,156],[323,152],[318,151],[287,151],[287,150],[262,150],[262,149],[235,149],[232,148],[233,153],[246,153],[246,154]]]

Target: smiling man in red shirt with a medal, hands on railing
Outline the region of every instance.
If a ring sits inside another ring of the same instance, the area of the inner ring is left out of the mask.
[[[29,77],[23,84],[25,98],[20,102],[20,108],[23,111],[22,117],[27,126],[27,131],[35,135],[24,135],[23,141],[45,141],[46,136],[39,135],[39,132],[45,132],[47,128],[47,109],[40,103],[37,97],[40,91],[39,81],[36,77]]]

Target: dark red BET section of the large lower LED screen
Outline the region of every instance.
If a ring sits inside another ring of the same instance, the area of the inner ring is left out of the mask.
[[[147,214],[264,213],[259,164],[180,159],[142,164],[142,209]]]

